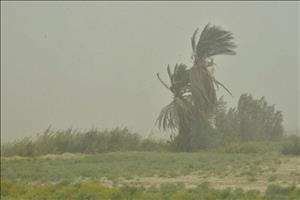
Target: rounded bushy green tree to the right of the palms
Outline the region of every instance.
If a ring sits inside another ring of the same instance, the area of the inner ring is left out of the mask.
[[[269,105],[264,97],[253,99],[242,94],[237,108],[226,109],[222,98],[215,112],[215,126],[221,143],[239,141],[278,141],[283,136],[283,117],[275,105]]]

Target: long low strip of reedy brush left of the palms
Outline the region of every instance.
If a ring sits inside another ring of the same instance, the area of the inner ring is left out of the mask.
[[[34,139],[24,138],[1,145],[4,156],[37,156],[61,153],[102,153],[111,151],[164,151],[164,141],[143,139],[127,128],[99,131],[91,129],[79,132],[68,129],[54,131],[48,128]]]

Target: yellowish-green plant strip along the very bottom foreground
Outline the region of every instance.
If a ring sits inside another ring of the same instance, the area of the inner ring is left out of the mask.
[[[17,200],[297,200],[300,189],[271,185],[266,193],[255,190],[244,191],[240,188],[235,190],[216,190],[201,184],[193,189],[187,189],[178,184],[165,184],[159,188],[143,188],[122,186],[109,188],[96,181],[82,183],[65,183],[31,185],[25,182],[1,181],[1,199]]]

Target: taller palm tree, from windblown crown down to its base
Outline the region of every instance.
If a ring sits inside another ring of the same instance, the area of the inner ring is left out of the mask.
[[[195,109],[191,125],[191,149],[208,146],[208,134],[212,131],[209,119],[217,106],[216,88],[221,86],[231,94],[209,70],[214,65],[213,58],[217,55],[235,55],[236,48],[232,33],[220,27],[207,24],[196,43],[197,32],[198,29],[191,38],[194,64],[190,70],[190,81]]]

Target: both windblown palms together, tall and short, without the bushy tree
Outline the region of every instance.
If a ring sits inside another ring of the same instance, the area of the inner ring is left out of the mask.
[[[236,47],[232,42],[232,33],[220,27],[207,24],[198,42],[196,42],[197,33],[198,29],[191,38],[193,66],[188,69],[183,64],[176,65],[173,73],[168,66],[171,86],[163,82],[157,74],[161,83],[173,93],[174,97],[173,101],[162,109],[157,120],[158,125],[164,130],[178,129],[177,138],[184,140],[181,144],[186,145],[181,149],[186,150],[197,147],[199,141],[195,140],[194,136],[203,136],[209,132],[211,127],[209,119],[217,105],[216,88],[221,86],[231,94],[209,70],[214,66],[213,57],[234,55]]]

